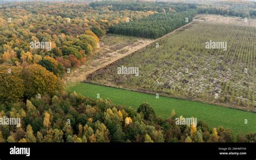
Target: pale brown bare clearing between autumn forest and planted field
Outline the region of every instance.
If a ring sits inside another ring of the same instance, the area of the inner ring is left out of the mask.
[[[92,72],[122,59],[136,50],[149,45],[153,40],[129,37],[124,35],[107,34],[100,39],[96,52],[87,56],[87,61],[79,68],[73,68],[64,77],[65,82],[83,82]]]

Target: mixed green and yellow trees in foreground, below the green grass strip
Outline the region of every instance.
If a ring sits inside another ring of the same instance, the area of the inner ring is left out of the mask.
[[[21,126],[0,125],[0,142],[255,142],[256,134],[233,137],[230,129],[206,122],[176,125],[156,117],[149,104],[132,108],[62,93],[0,105],[0,117],[21,118]],[[180,117],[182,118],[182,116]]]

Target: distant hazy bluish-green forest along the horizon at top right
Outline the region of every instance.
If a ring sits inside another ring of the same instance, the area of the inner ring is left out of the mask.
[[[115,10],[151,10],[157,12],[177,12],[188,9],[198,9],[198,13],[223,14],[236,17],[252,17],[256,16],[256,2],[209,2],[206,4],[192,3],[166,3],[166,2],[93,2],[90,3],[93,8],[107,6],[109,9]]]

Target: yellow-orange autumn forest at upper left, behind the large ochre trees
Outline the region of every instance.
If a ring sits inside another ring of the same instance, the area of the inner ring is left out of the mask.
[[[92,10],[88,4],[7,3],[0,5],[0,64],[40,64],[57,76],[79,67],[113,24],[148,17],[149,11]],[[123,18],[122,18],[123,17]],[[51,42],[51,50],[31,42]]]

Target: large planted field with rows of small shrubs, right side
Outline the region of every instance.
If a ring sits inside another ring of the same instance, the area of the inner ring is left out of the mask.
[[[251,26],[192,24],[93,72],[87,81],[256,111],[255,33]],[[139,76],[118,74],[122,66],[138,67]]]

